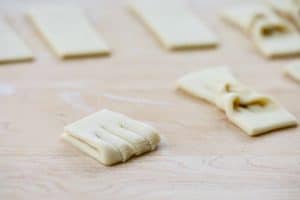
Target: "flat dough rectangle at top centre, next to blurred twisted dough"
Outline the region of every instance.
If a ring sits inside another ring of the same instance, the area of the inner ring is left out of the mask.
[[[169,50],[218,44],[215,34],[180,1],[132,0],[129,6]]]

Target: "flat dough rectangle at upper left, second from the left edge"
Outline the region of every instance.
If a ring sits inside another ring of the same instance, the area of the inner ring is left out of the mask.
[[[107,55],[106,42],[76,7],[35,7],[28,11],[35,28],[61,58]]]

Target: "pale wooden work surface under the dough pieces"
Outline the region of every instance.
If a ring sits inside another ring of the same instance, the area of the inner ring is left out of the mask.
[[[110,57],[61,61],[24,17],[36,4],[79,4],[113,48]],[[226,64],[300,119],[300,85],[217,16],[237,1],[189,1],[221,40],[217,49],[166,52],[125,1],[1,0],[36,60],[0,66],[0,199],[300,199],[300,129],[251,138],[214,106],[175,90],[187,72]],[[299,58],[298,58],[299,60]],[[159,149],[104,167],[60,139],[99,109],[161,132]]]

